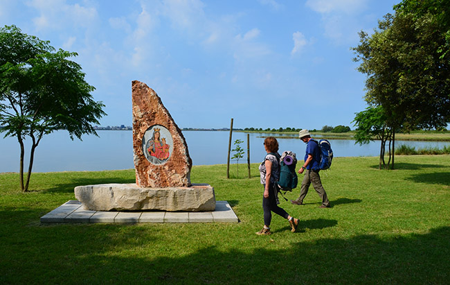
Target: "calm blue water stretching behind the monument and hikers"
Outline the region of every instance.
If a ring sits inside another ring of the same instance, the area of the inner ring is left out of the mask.
[[[84,136],[71,141],[66,131],[45,136],[36,148],[33,172],[52,171],[102,171],[133,169],[132,131],[100,130],[100,137]],[[226,164],[229,132],[185,131],[184,137],[194,165]],[[250,134],[250,161],[260,162],[264,157],[264,138],[269,134]],[[233,142],[246,150],[246,133],[233,132]],[[305,144],[299,139],[279,139],[280,153],[291,150],[302,159]],[[352,140],[330,140],[335,157],[377,156],[379,141],[367,145],[355,145]],[[450,146],[450,142],[396,141],[396,146],[408,144],[415,148]],[[30,146],[27,145],[27,152]],[[232,149],[233,149],[232,145]],[[19,171],[19,144],[17,139],[0,138],[0,172]],[[233,155],[231,155],[233,156]],[[234,161],[231,163],[235,163]],[[240,163],[246,163],[246,153]],[[28,167],[28,157],[26,157]]]

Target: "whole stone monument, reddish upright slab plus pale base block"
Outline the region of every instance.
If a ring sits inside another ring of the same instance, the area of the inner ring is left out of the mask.
[[[75,187],[84,209],[96,211],[214,211],[214,188],[191,184],[188,146],[153,89],[132,82],[136,184]]]

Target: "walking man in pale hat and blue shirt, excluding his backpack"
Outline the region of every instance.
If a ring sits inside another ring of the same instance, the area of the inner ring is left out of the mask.
[[[303,205],[303,199],[305,199],[309,185],[312,183],[314,190],[316,190],[318,196],[322,199],[321,208],[329,208],[330,201],[328,200],[325,189],[323,189],[321,176],[318,174],[320,171],[319,164],[321,163],[321,150],[318,147],[318,143],[312,139],[308,130],[300,130],[298,137],[306,144],[305,164],[298,171],[300,174],[305,172],[305,176],[303,177],[300,196],[296,200],[291,200],[291,203],[294,205]]]

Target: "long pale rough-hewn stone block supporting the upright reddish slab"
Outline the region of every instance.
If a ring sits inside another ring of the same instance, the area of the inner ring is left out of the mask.
[[[75,187],[84,209],[93,211],[214,211],[215,193],[209,184],[191,187],[143,188],[136,184],[97,184]]]

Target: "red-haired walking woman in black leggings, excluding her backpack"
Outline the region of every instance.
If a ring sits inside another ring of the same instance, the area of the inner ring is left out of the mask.
[[[278,207],[278,185],[276,181],[280,178],[280,154],[278,153],[278,141],[274,137],[264,139],[264,148],[267,155],[260,165],[261,184],[264,185],[264,196],[262,197],[262,209],[264,210],[264,227],[256,234],[271,234],[270,223],[272,211],[286,218],[291,225],[291,232],[295,232],[298,226],[298,218],[289,216],[287,212]]]

